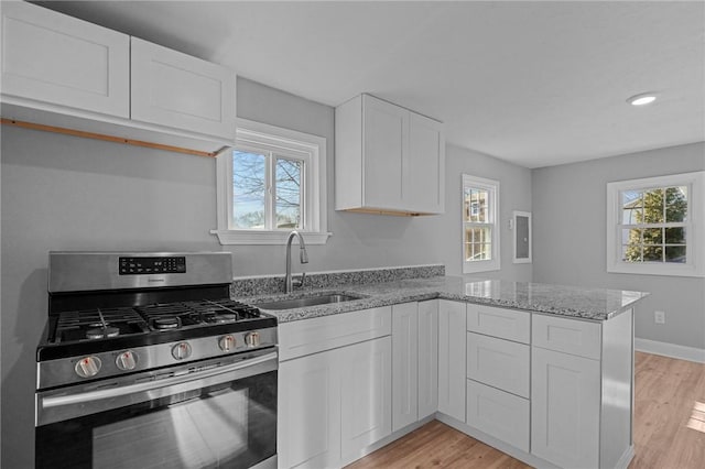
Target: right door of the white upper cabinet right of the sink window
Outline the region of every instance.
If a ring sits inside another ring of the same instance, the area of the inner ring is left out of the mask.
[[[409,153],[402,167],[403,198],[409,207],[442,214],[445,207],[445,139],[441,122],[410,112]]]

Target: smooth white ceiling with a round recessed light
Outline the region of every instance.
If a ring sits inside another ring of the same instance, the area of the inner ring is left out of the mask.
[[[41,3],[329,106],[373,94],[527,167],[705,141],[703,1]]]

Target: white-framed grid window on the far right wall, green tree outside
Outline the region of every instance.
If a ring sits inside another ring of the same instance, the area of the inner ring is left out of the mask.
[[[703,276],[704,175],[607,184],[607,271]]]

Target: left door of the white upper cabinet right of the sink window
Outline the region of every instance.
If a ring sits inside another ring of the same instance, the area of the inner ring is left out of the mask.
[[[403,209],[402,161],[409,145],[409,111],[362,97],[364,205]]]

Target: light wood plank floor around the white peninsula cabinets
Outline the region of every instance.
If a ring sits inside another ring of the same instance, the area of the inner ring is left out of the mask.
[[[629,469],[705,468],[705,364],[636,353],[634,451]],[[372,468],[529,468],[433,421],[354,462]]]

